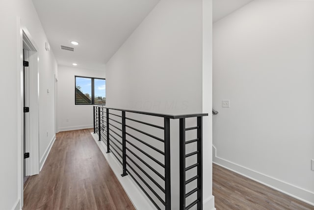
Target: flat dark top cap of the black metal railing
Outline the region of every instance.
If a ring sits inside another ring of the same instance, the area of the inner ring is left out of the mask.
[[[159,113],[152,113],[152,112],[135,111],[135,110],[116,109],[116,108],[110,108],[110,107],[99,106],[99,105],[94,105],[94,107],[102,107],[105,109],[124,111],[124,112],[130,112],[130,113],[136,113],[136,114],[142,114],[142,115],[150,115],[150,116],[169,118],[169,119],[182,119],[182,118],[194,118],[194,117],[208,116],[207,113],[205,113],[205,114],[201,113],[201,114],[168,115],[168,114],[159,114]]]

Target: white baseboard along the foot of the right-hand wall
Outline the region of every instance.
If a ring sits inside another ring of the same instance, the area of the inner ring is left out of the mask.
[[[296,198],[300,201],[303,201],[305,203],[308,203],[314,206],[314,192],[308,191],[306,189],[302,189],[293,184],[287,183],[282,180],[278,180],[276,178],[267,176],[260,172],[251,170],[244,166],[241,166],[231,161],[220,158],[217,156],[216,148],[214,146],[212,146],[212,162],[221,167],[229,169],[230,171],[240,174],[246,178],[257,181],[263,185],[271,187],[277,191],[285,193],[293,198]]]

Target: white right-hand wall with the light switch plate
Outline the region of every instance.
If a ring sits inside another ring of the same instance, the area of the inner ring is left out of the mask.
[[[253,1],[213,25],[214,161],[312,204],[313,37],[314,1]]]

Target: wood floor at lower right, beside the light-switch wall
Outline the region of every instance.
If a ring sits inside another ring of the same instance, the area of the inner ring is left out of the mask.
[[[217,210],[314,210],[286,194],[213,164]]]

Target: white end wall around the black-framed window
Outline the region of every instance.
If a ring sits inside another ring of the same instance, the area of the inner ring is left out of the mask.
[[[105,78],[105,69],[99,71],[58,66],[57,120],[59,131],[91,128],[94,126],[93,105],[75,105],[75,76]]]

